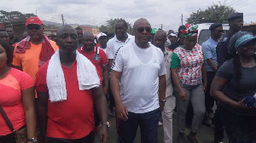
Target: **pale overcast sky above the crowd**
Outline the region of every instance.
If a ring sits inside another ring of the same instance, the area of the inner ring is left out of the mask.
[[[139,18],[148,19],[152,27],[177,31],[189,14],[222,3],[244,13],[245,23],[256,22],[256,0],[0,0],[0,9],[38,14],[41,20],[101,26],[106,20],[123,18],[131,26]]]

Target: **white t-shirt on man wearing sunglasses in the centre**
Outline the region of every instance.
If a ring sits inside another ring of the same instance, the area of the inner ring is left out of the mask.
[[[129,112],[144,113],[159,108],[159,76],[166,74],[164,54],[154,45],[147,49],[135,42],[119,49],[113,71],[122,72],[120,95]]]

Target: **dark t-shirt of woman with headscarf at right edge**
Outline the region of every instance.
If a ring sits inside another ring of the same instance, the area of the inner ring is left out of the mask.
[[[233,59],[224,62],[223,66],[220,66],[216,75],[224,79],[229,80],[224,87],[224,94],[231,100],[242,100],[245,96],[253,96],[256,93],[256,66],[243,67],[241,66],[241,80],[240,83],[236,81],[236,75],[234,72]],[[246,116],[255,116],[256,108],[254,110],[241,110],[234,107],[224,105],[222,106],[229,109],[231,112]]]

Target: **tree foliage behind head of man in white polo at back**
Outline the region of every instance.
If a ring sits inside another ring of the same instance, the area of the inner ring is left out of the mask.
[[[115,18],[115,19],[107,20],[105,25],[100,26],[99,28],[100,31],[108,31],[109,33],[114,33],[114,25],[117,20],[123,20],[123,19]],[[131,24],[129,24],[129,22],[127,22],[127,24],[128,24],[127,32],[131,33],[132,31]]]

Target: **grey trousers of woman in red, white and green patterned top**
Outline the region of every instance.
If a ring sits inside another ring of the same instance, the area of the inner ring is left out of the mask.
[[[177,90],[177,88],[175,89]],[[183,87],[183,90],[185,91],[188,100],[182,100],[179,96],[179,93],[177,92],[177,129],[179,133],[184,133],[186,112],[188,109],[189,101],[191,101],[194,109],[191,131],[197,133],[206,113],[203,85],[199,84],[195,86]]]

